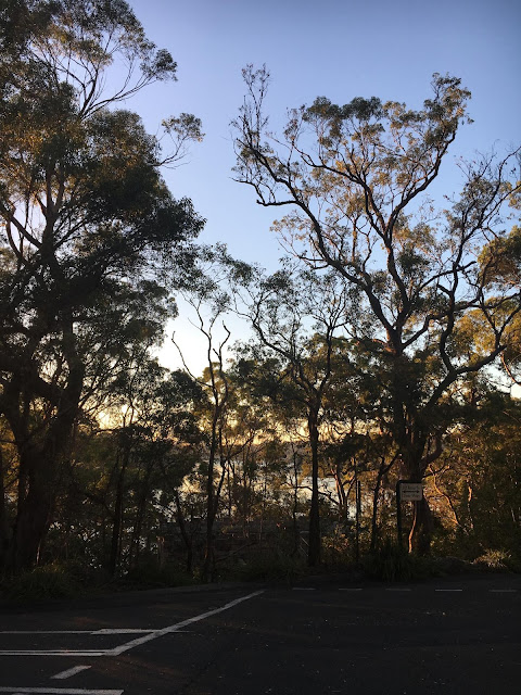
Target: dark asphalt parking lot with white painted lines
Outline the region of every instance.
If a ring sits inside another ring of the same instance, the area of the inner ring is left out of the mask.
[[[13,609],[0,693],[521,692],[521,578],[162,590]]]

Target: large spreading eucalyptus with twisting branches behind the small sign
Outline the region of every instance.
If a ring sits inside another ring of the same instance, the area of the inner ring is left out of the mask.
[[[278,136],[265,113],[266,68],[243,74],[236,178],[258,204],[289,210],[275,229],[301,262],[329,267],[358,294],[356,338],[386,367],[389,428],[404,472],[420,481],[440,401],[501,354],[520,311],[519,285],[497,271],[519,210],[519,150],[463,164],[459,195],[436,208],[430,187],[468,119],[470,92],[458,78],[435,74],[419,110],[376,97],[345,105],[318,98],[291,110]],[[455,343],[471,312],[488,348],[465,355]],[[410,540],[429,551],[425,500],[416,504]]]

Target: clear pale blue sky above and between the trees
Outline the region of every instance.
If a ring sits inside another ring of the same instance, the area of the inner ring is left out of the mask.
[[[274,211],[255,204],[250,187],[232,180],[230,122],[243,101],[241,68],[266,64],[267,111],[283,123],[289,108],[318,96],[335,103],[376,96],[420,108],[432,74],[452,74],[472,92],[450,157],[504,152],[521,140],[521,2],[519,0],[129,0],[148,37],[169,50],[178,81],[158,84],[128,103],[155,132],[161,119],[188,112],[203,122],[204,141],[183,164],[164,173],[176,198],[188,197],[207,222],[200,240],[270,270],[283,255],[269,230]],[[441,180],[450,193],[457,181]],[[181,307],[182,314],[182,307]],[[176,320],[193,369],[201,344]],[[185,332],[183,332],[185,331]],[[182,341],[181,341],[182,342]],[[169,341],[162,362],[179,366]]]

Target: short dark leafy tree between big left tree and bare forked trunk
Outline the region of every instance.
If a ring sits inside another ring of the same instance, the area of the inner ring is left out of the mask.
[[[147,518],[156,527],[162,517],[157,498],[175,502],[176,491],[201,455],[203,434],[193,414],[201,389],[185,372],[170,372],[147,354],[138,354],[131,368],[119,372],[112,391],[112,410],[118,413],[119,420],[110,432],[115,456],[109,568],[115,573],[126,529],[131,527],[127,532],[131,567],[139,558]]]

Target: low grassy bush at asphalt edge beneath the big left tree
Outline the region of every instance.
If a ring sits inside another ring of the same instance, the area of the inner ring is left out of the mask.
[[[71,598],[78,593],[78,584],[60,565],[35,567],[11,579],[5,586],[8,598],[18,603]]]

